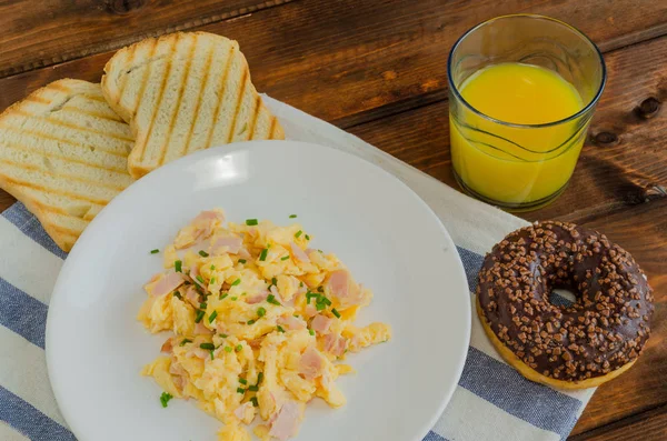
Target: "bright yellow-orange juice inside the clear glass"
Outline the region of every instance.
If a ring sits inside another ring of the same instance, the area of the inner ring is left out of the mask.
[[[549,69],[508,62],[477,71],[458,90],[477,111],[461,104],[450,113],[451,159],[464,187],[509,207],[539,204],[565,188],[588,119],[550,123],[584,108],[573,84]]]

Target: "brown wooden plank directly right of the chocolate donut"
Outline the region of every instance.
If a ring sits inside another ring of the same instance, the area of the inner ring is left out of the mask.
[[[574,433],[667,403],[667,199],[584,224],[604,232],[635,257],[654,289],[656,310],[644,354],[627,373],[598,388]]]

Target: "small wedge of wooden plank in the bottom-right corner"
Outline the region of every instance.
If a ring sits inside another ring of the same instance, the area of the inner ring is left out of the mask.
[[[611,424],[570,437],[568,441],[667,440],[667,405],[615,421]]]

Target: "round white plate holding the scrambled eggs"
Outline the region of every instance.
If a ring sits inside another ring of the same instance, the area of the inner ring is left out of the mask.
[[[150,173],[118,196],[68,257],[47,321],[49,377],[81,440],[215,440],[221,423],[193,402],[160,405],[140,377],[166,339],[135,319],[163,249],[199,211],[230,220],[297,213],[313,247],[336,253],[372,289],[360,323],[386,321],[394,339],[348,358],[348,403],[315,400],[296,440],[420,441],[449,401],[470,335],[470,302],[449,234],[417,194],[351,154],[290,141],[209,149]]]

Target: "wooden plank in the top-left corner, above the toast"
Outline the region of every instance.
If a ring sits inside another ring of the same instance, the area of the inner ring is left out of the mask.
[[[0,77],[232,19],[291,0],[2,1]]]

